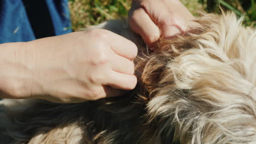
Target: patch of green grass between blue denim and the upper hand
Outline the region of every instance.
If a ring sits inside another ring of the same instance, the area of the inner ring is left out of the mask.
[[[89,25],[97,25],[106,20],[126,16],[130,0],[73,0],[69,1],[72,28],[77,31]]]

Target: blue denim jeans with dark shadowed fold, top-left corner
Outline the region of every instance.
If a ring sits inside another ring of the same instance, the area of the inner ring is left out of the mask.
[[[0,44],[72,32],[68,0],[0,0]]]

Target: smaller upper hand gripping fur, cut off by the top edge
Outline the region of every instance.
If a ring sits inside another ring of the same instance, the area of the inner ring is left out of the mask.
[[[132,30],[147,44],[185,32],[193,19],[179,0],[133,0],[129,11]]]

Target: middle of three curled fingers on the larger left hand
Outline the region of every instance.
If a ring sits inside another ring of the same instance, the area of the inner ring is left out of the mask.
[[[132,75],[134,73],[134,63],[125,57],[115,55],[112,59],[112,70]]]

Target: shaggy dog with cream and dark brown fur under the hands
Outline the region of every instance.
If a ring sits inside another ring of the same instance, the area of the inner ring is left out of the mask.
[[[196,22],[149,54],[124,22],[97,26],[139,47],[136,89],[79,104],[2,100],[0,143],[256,143],[256,31],[231,13]]]

